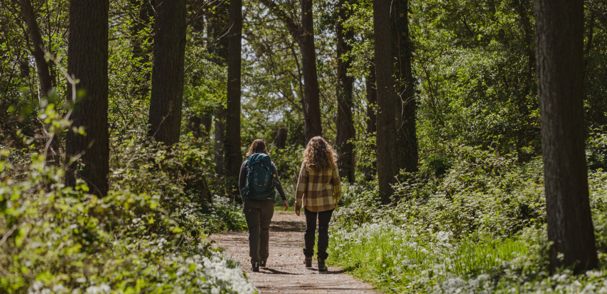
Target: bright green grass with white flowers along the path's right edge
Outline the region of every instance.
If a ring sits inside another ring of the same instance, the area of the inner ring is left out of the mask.
[[[426,276],[434,285],[447,276],[475,278],[529,251],[524,242],[512,238],[439,244],[412,238],[396,227],[336,230],[329,247],[331,265],[351,270],[354,276],[387,293],[427,287],[427,283],[417,285],[419,276]]]

